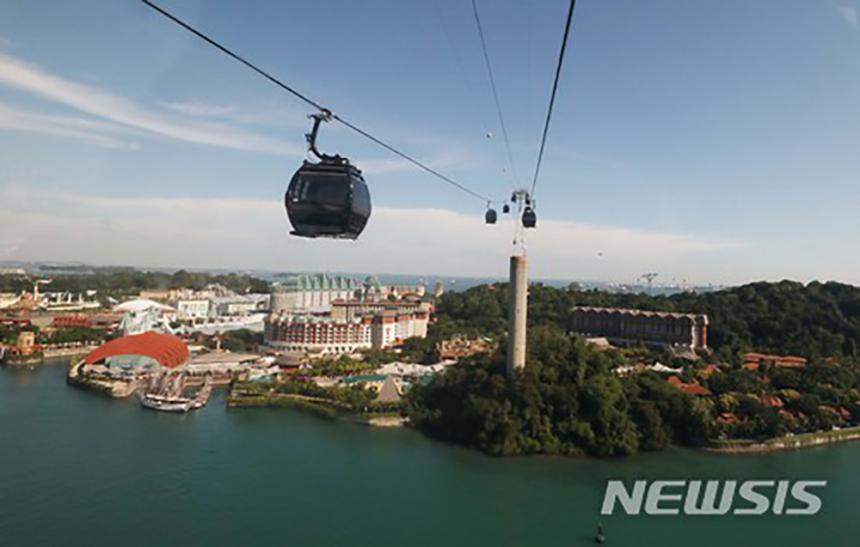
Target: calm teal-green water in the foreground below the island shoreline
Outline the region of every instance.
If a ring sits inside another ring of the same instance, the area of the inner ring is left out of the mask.
[[[0,368],[0,545],[854,546],[860,443],[497,459],[291,410],[187,415]],[[601,517],[608,479],[827,480],[816,516]]]

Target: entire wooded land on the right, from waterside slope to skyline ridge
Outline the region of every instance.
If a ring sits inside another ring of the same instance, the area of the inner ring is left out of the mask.
[[[494,455],[621,456],[669,444],[702,446],[737,439],[826,431],[860,423],[860,289],[838,283],[754,283],[706,294],[651,297],[533,285],[528,360],[504,374],[507,285],[445,294],[437,302],[439,333],[498,341],[409,394],[413,425],[433,437]],[[618,367],[657,359],[644,348],[598,350],[567,332],[575,305],[708,314],[716,355],[683,366],[677,381]],[[421,348],[418,343],[410,348]],[[738,354],[799,354],[801,369],[740,366]],[[706,362],[718,363],[706,367]]]

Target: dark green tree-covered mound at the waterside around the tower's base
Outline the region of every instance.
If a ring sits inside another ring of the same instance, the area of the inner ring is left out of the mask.
[[[653,373],[620,378],[621,351],[598,351],[557,327],[529,332],[523,374],[507,378],[501,351],[452,367],[408,398],[414,426],[493,455],[623,456],[711,437],[706,402]]]

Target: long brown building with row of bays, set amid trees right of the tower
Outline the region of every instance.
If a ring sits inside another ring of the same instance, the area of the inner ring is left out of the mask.
[[[571,312],[570,331],[620,344],[708,350],[708,316],[704,314],[577,306]]]

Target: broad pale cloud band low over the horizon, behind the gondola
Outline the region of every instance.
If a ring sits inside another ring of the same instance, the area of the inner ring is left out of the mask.
[[[513,227],[442,209],[377,207],[356,242],[288,235],[271,200],[117,198],[10,188],[0,194],[6,258],[137,266],[504,276]],[[4,210],[5,209],[5,210]],[[598,251],[633,276],[655,261],[699,259],[737,241],[544,220],[529,233],[535,276],[583,278]],[[604,276],[605,277],[605,276]]]

